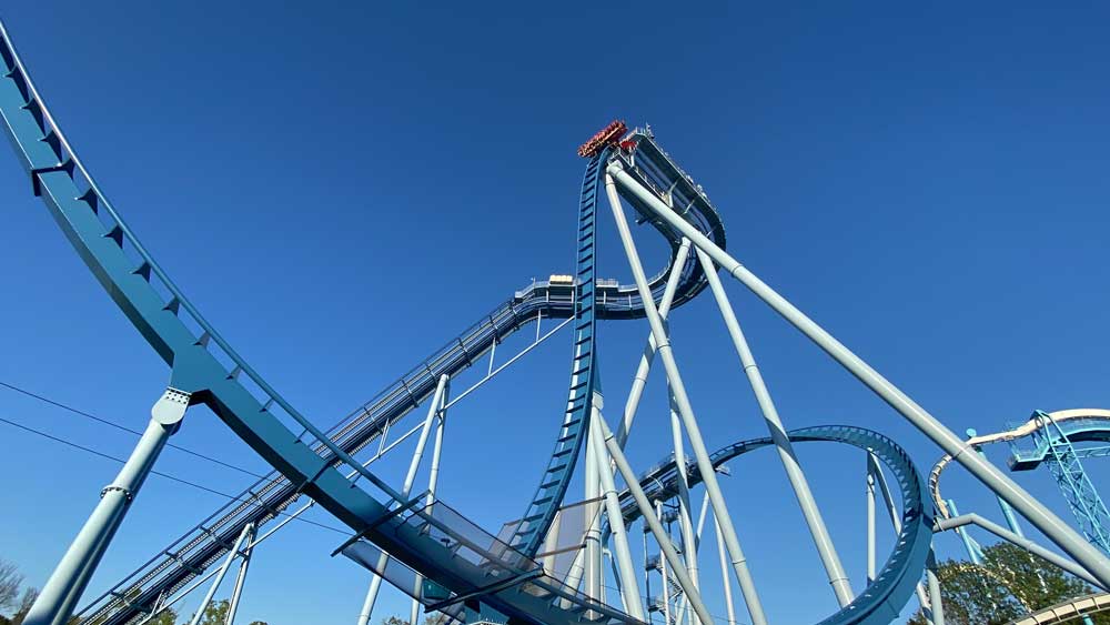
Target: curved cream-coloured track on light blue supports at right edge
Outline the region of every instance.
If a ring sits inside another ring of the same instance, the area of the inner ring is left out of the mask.
[[[1052,421],[1060,425],[1064,435],[1072,442],[1110,441],[1110,410],[1061,410],[1049,413],[1049,416]],[[968,444],[977,447],[990,443],[1008,443],[1018,438],[1031,436],[1040,429],[1041,421],[1035,416],[1013,430],[996,432],[993,434],[983,434],[981,436],[968,438]],[[1048,447],[1043,444],[1030,452],[1015,454],[1015,456],[1010,460],[1011,470],[1025,471],[1033,468],[1045,460],[1047,454]],[[951,511],[948,510],[948,504],[945,502],[945,497],[940,494],[940,476],[951,461],[952,456],[945,455],[938,460],[935,465],[932,465],[932,471],[929,472],[929,492],[932,494],[932,505],[937,507],[940,516],[945,518],[951,517]]]

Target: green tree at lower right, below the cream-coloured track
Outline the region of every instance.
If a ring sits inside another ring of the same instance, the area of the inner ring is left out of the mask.
[[[1000,543],[983,550],[981,565],[962,561],[937,567],[948,625],[1005,625],[1019,616],[1094,592],[1083,582],[1021,547]],[[1110,625],[1110,615],[1091,616]],[[918,609],[907,625],[925,625]]]

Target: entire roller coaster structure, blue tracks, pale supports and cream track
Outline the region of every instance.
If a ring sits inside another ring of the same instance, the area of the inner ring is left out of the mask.
[[[369,621],[383,581],[412,597],[413,619],[423,608],[461,623],[636,625],[659,617],[668,625],[713,623],[722,618],[706,605],[702,589],[708,582],[698,567],[702,531],[712,518],[727,621],[738,622],[731,595],[735,583],[749,622],[761,625],[768,619],[717,475],[726,462],[764,447],[773,448],[783,464],[837,602],[837,609],[821,625],[891,623],[914,596],[934,625],[944,625],[939,581],[932,571],[934,536],[946,530],[963,536],[969,523],[990,525],[978,515],[952,514],[941,498],[939,477],[952,461],[992,491],[1003,511],[1023,516],[1067,557],[1017,535],[1013,523],[1010,532],[996,534],[1050,558],[1098,588],[1110,587],[1110,560],[1102,553],[1107,548],[1106,506],[1097,493],[1092,498],[1090,481],[1083,483],[1086,475],[1078,465],[1083,454],[1069,446],[1072,441],[1104,440],[1098,432],[1104,432],[1099,427],[1110,419],[1110,412],[1038,413],[1025,430],[959,437],[733,258],[726,251],[720,213],[702,185],[660,147],[650,129],[629,130],[624,122],[609,124],[578,151],[586,167],[578,196],[573,273],[553,274],[515,292],[372,400],[322,430],[270,386],[169,278],[65,139],[2,24],[0,39],[4,69],[0,117],[32,193],[42,200],[123,314],[170,366],[169,384],[152,409],[147,431],[47,582],[24,621],[28,625],[61,625],[70,623],[73,615],[90,625],[148,623],[211,579],[203,607],[238,561],[230,624],[253,551],[313,506],[350,530],[350,537],[333,555],[343,555],[371,574],[361,624]],[[669,246],[667,262],[654,275],[644,271],[626,206],[634,211],[637,224],[650,225]],[[605,208],[612,212],[633,283],[597,276],[597,218]],[[902,447],[880,433],[850,425],[786,429],[729,303],[722,272],[746,286],[940,447],[946,455],[928,484]],[[739,441],[714,453],[702,437],[667,326],[673,310],[707,291],[768,426],[766,437]],[[543,332],[545,320],[557,322]],[[599,322],[629,320],[645,320],[649,332],[625,405],[610,427],[603,412],[597,333]],[[495,366],[497,346],[532,324],[534,340]],[[553,450],[519,518],[491,533],[436,493],[445,415],[451,406],[563,329],[572,335],[571,372],[566,404],[559,406],[558,419],[551,425]],[[450,397],[451,381],[487,356],[485,375]],[[637,473],[624,450],[656,360],[666,373],[674,451]],[[159,453],[183,425],[186,412],[200,404],[273,471],[132,574],[79,606]],[[418,417],[420,409],[423,419]],[[416,423],[410,426],[406,419],[413,415],[417,415],[413,419]],[[1069,504],[1080,516],[1080,531],[978,453],[982,444],[1022,436],[1035,437],[1035,448],[1016,453],[1011,467],[1051,464],[1058,481],[1070,484],[1068,492],[1076,493]],[[412,437],[416,437],[416,451],[404,484],[397,487],[375,472],[374,462]],[[430,440],[434,440],[434,447],[428,486],[414,493]],[[868,517],[867,585],[858,593],[848,582],[794,451],[795,444],[813,442],[852,446],[867,460],[872,513]],[[1101,454],[1084,453],[1086,457]],[[892,480],[888,481],[888,474]],[[584,496],[568,501],[576,475],[584,483]],[[896,488],[890,487],[891,482]],[[693,505],[695,488],[704,492],[700,515]],[[877,494],[894,533],[894,550],[881,567],[874,553]],[[294,504],[300,507],[290,512]],[[630,527],[636,523],[644,528],[643,566],[634,565],[632,557]],[[654,541],[652,547],[648,540]],[[606,554],[616,593],[604,589]],[[655,576],[659,577],[662,597],[650,595]],[[1107,605],[1101,597],[1080,597],[1070,607],[1053,609],[1058,615],[1087,614]]]

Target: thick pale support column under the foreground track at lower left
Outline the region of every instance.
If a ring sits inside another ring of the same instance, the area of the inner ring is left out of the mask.
[[[170,436],[178,431],[189,407],[190,395],[176,389],[167,389],[151,409],[147,431],[131,452],[119,475],[100,493],[100,503],[73,538],[73,543],[50,575],[42,592],[23,623],[27,625],[64,625],[73,607],[89,584],[100,558],[108,550],[112,536],[123,523],[131,503],[139,494],[154,461],[165,447]]]

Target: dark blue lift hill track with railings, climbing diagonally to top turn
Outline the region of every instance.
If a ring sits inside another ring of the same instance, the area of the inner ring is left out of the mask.
[[[690,216],[702,222],[705,231],[715,240],[724,243],[724,229],[712,206],[705,202],[696,203]],[[666,229],[659,228],[659,230],[668,236],[672,248],[677,250],[677,238],[672,236]],[[670,263],[674,263],[674,260],[673,254]],[[673,268],[670,263],[653,279],[654,292],[663,291],[665,278]],[[696,262],[685,262],[678,270],[680,281],[675,296],[676,306],[688,302],[705,288],[705,276]],[[620,285],[613,280],[596,281],[595,286],[598,319],[635,319],[643,315],[643,305],[634,286]],[[576,290],[573,284],[542,281],[517,291],[512,299],[483,315],[457,339],[437,350],[397,382],[330,429],[329,435],[347,453],[354,454],[365,448],[425,401],[434,389],[438,375],[454,376],[470,369],[497,342],[525,325],[538,323],[542,319],[575,315]],[[561,427],[558,438],[562,437]],[[322,445],[316,451],[325,457],[330,456],[330,451]],[[559,452],[561,448],[555,450],[555,454]],[[568,480],[569,472],[564,477]],[[565,483],[565,480],[559,482]],[[200,572],[218,561],[225,553],[226,545],[234,541],[248,523],[254,522],[259,525],[269,523],[301,494],[295,484],[284,475],[279,472],[272,473],[239,496],[246,503],[231,502],[202,520],[194,528],[168,545],[162,553],[157,554],[132,575],[98,597],[81,613],[90,618],[104,619],[105,625],[129,622],[153,605],[158,597],[184,587]],[[141,592],[134,596],[133,588],[137,587],[141,588]],[[127,601],[124,591],[130,593]]]

